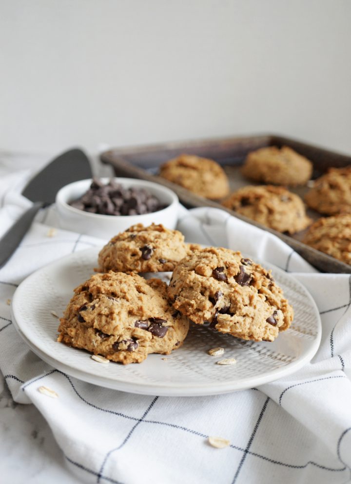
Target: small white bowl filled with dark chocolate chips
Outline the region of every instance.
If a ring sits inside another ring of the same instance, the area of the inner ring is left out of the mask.
[[[93,178],[61,188],[56,207],[61,229],[111,238],[131,225],[176,228],[179,200],[172,190],[134,178]]]

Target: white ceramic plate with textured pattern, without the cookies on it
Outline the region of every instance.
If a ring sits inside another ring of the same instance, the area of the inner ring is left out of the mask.
[[[98,363],[89,353],[56,341],[59,321],[51,314],[62,315],[73,289],[93,274],[97,256],[94,248],[49,264],[27,277],[12,300],[13,322],[21,337],[40,358],[68,375],[145,395],[215,395],[286,377],[318,349],[321,322],[312,296],[291,275],[264,263],[295,312],[292,328],[272,343],[243,341],[193,324],[183,346],[172,355],[149,355],[140,364],[126,366]],[[225,348],[224,356],[207,354],[215,346]],[[222,358],[235,358],[236,364],[217,365]]]

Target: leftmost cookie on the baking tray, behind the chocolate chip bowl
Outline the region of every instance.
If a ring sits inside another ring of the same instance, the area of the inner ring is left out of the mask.
[[[229,181],[223,168],[208,158],[180,155],[161,165],[160,176],[212,200],[229,193]]]

